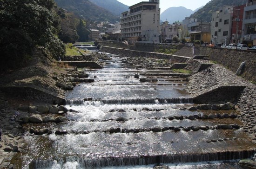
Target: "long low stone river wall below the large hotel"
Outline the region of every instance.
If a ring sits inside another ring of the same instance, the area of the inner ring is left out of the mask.
[[[144,52],[144,51],[133,51],[127,49],[120,49],[108,46],[102,46],[101,52],[108,52],[116,55],[120,55],[122,57],[148,57],[148,58],[162,58],[162,59],[171,59],[173,62],[177,63],[186,63],[190,58],[189,57],[182,57],[182,56],[175,56],[170,54],[163,54],[163,53],[155,53],[155,52]]]

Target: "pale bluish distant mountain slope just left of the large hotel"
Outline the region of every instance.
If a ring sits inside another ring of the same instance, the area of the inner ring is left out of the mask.
[[[122,4],[117,0],[89,0],[95,5],[102,7],[116,16],[120,16],[121,13],[128,11],[129,6]]]

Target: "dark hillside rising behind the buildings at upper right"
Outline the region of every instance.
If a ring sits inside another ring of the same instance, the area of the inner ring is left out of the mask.
[[[211,21],[212,13],[218,11],[220,7],[224,5],[238,6],[246,3],[247,0],[211,0],[204,7],[191,15],[191,18],[197,18],[202,21]]]

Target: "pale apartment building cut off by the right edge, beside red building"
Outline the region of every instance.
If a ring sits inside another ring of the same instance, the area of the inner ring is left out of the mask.
[[[256,45],[256,0],[248,0],[243,12],[243,44]]]

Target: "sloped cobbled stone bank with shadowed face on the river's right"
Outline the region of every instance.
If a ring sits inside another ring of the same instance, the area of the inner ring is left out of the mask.
[[[220,89],[222,90],[218,91]],[[236,104],[236,110],[240,113],[237,118],[243,122],[244,132],[248,134],[253,143],[256,143],[255,84],[245,81],[220,65],[213,65],[210,67],[210,71],[201,71],[192,75],[189,78],[187,91],[195,101],[201,103],[208,104],[210,99],[214,98],[216,102],[230,101]],[[230,100],[227,100],[228,98]]]

